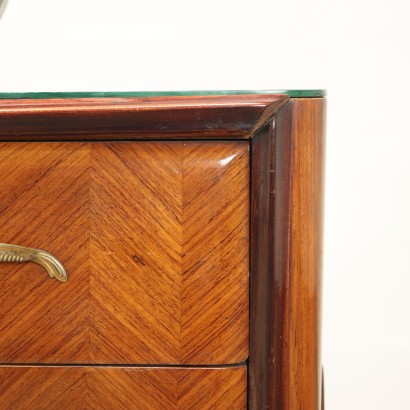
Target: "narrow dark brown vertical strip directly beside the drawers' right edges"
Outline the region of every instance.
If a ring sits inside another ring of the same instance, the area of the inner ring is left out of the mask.
[[[269,363],[269,315],[271,255],[273,243],[272,212],[273,168],[272,127],[266,126],[252,139],[251,180],[251,275],[249,407],[262,409],[267,403]]]

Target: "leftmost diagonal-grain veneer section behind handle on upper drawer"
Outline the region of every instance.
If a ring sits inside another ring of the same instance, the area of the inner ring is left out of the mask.
[[[0,264],[0,362],[89,360],[89,148],[1,144],[2,242],[44,249],[69,281]]]

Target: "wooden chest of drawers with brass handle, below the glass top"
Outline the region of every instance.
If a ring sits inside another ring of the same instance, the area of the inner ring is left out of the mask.
[[[322,406],[313,95],[3,96],[1,409]]]

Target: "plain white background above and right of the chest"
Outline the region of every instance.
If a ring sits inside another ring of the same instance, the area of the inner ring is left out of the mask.
[[[9,0],[0,90],[326,88],[326,407],[409,409],[409,43],[409,0]]]

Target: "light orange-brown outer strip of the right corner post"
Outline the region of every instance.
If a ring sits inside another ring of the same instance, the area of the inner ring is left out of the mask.
[[[289,409],[320,409],[324,100],[293,105]]]

